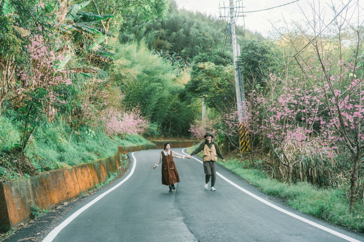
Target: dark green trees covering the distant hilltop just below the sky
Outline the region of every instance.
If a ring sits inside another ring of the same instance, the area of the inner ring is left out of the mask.
[[[170,10],[165,19],[150,22],[143,21],[143,15],[137,13],[128,16],[120,29],[119,41],[127,43],[143,38],[151,50],[172,51],[187,60],[216,49],[222,43],[223,33],[219,21],[185,10]]]

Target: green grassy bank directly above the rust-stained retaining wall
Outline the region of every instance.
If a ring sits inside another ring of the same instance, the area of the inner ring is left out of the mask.
[[[125,139],[110,137],[100,128],[80,127],[73,132],[70,127],[54,120],[44,123],[31,136],[26,155],[37,172],[62,169],[106,158],[118,152],[118,146],[147,145],[151,142],[138,135],[127,135]],[[27,173],[18,172],[13,148],[20,142],[19,123],[11,114],[0,117],[0,181],[27,178]],[[69,141],[69,142],[68,142]]]

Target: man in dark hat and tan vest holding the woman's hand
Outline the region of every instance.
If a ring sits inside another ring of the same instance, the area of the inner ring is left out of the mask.
[[[191,155],[189,155],[190,158],[193,155],[196,155],[197,153],[203,151],[203,170],[205,171],[205,189],[208,188],[208,183],[210,181],[211,177],[211,191],[216,191],[214,188],[215,186],[215,180],[216,180],[216,161],[217,156],[219,156],[222,159],[222,162],[225,163],[225,159],[221,154],[221,151],[218,147],[218,145],[212,141],[212,138],[214,137],[210,132],[207,132],[205,134],[205,141],[203,141],[197,149],[195,149]]]

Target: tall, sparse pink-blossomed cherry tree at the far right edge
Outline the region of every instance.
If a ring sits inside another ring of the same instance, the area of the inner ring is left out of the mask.
[[[322,12],[312,6],[311,29],[300,29],[313,52],[309,58],[297,52],[296,61],[302,72],[302,81],[309,85],[310,93],[321,102],[320,109],[327,113],[320,118],[321,136],[332,143],[333,148],[341,143],[351,153],[349,199],[352,210],[364,148],[364,71],[361,50],[364,32],[363,22],[353,24],[350,19],[355,17],[350,13],[352,9],[361,9],[359,2],[356,1],[350,7],[348,5],[341,4],[341,11],[333,7],[336,17],[329,24],[325,23]],[[359,16],[361,13],[356,9],[354,12]]]

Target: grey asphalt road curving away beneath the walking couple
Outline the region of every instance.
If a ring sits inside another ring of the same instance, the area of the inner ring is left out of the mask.
[[[181,182],[169,192],[161,165],[153,170],[159,152],[131,153],[130,171],[72,209],[43,241],[364,241],[275,202],[220,165],[217,191],[205,190],[199,157],[174,159]]]

